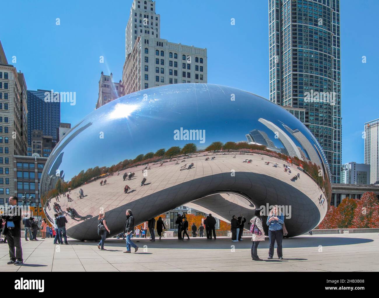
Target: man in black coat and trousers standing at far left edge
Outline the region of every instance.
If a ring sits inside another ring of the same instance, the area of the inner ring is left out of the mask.
[[[9,258],[8,265],[23,264],[22,248],[21,248],[21,208],[17,205],[19,199],[16,196],[9,197],[8,213],[2,215],[5,220],[4,234],[8,240]],[[15,252],[16,250],[16,252]]]

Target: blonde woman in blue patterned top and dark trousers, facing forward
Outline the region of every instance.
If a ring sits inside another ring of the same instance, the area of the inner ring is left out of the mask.
[[[283,223],[284,216],[279,211],[278,205],[270,211],[267,217],[266,225],[268,225],[268,237],[270,240],[270,246],[268,249],[268,259],[272,259],[274,255],[275,240],[277,244],[276,253],[279,259],[283,259],[282,240],[283,240]]]

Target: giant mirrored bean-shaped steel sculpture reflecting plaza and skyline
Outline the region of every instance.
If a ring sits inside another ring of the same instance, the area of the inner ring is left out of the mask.
[[[66,133],[41,177],[45,214],[52,222],[62,211],[79,240],[99,239],[100,210],[114,236],[127,209],[137,225],[181,205],[228,222],[279,205],[296,236],[321,222],[330,197],[326,157],[304,124],[265,98],[211,84],[109,102]]]

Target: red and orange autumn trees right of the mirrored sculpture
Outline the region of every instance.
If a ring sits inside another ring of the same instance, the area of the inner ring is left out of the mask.
[[[374,192],[365,192],[360,199],[343,199],[340,205],[329,206],[316,229],[379,228],[379,203]]]

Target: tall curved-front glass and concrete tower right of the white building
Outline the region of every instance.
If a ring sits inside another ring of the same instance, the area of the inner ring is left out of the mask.
[[[269,0],[269,99],[316,137],[332,182],[341,168],[340,1]]]

